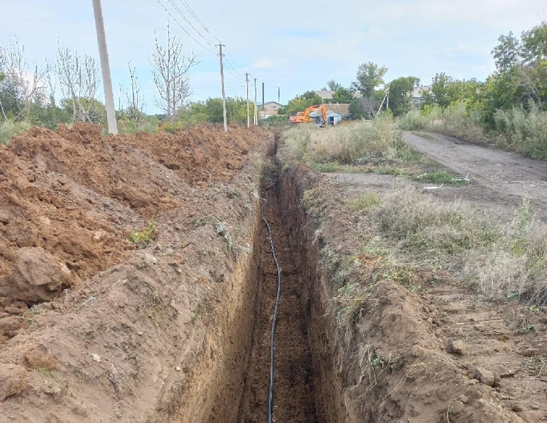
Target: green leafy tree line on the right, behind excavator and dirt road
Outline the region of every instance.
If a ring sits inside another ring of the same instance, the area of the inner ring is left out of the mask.
[[[547,22],[523,32],[519,38],[511,32],[501,35],[498,43],[492,50],[496,63],[492,75],[479,81],[458,80],[444,72],[437,73],[423,91],[422,109],[427,112],[433,106],[461,105],[480,114],[487,128],[494,128],[498,110],[547,110]],[[387,71],[385,66],[363,63],[350,86],[331,80],[323,90],[334,92],[333,103],[350,103],[352,118],[362,118],[376,114],[389,89],[388,109],[394,116],[404,115],[414,108],[412,92],[420,85],[420,79],[402,76],[386,82]],[[289,100],[280,113],[292,115],[321,102],[315,92],[307,91]]]

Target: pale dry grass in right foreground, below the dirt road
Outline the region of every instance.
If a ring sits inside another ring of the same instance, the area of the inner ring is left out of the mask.
[[[405,252],[461,271],[488,299],[547,303],[547,225],[526,195],[507,224],[406,188],[386,194],[370,215]]]

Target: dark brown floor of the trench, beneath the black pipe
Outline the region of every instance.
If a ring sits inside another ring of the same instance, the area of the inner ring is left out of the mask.
[[[272,169],[266,167],[266,169]],[[307,320],[302,305],[303,279],[283,224],[279,182],[275,171],[265,172],[264,217],[270,223],[277,259],[282,268],[280,309],[275,348],[274,421],[317,422],[315,380]],[[270,372],[270,333],[277,294],[277,272],[267,229],[261,226],[257,304],[251,356],[244,373],[245,389],[238,422],[266,422]]]

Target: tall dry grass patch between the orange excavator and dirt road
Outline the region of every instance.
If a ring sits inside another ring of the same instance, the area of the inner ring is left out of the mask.
[[[390,114],[327,128],[300,124],[287,131],[285,140],[293,157],[311,163],[402,163],[414,158]]]

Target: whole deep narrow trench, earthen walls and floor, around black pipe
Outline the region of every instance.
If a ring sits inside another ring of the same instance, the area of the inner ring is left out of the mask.
[[[282,172],[275,151],[266,159],[260,196],[282,268],[275,335],[274,422],[347,420],[340,380],[339,334],[320,243],[300,207],[298,178]],[[217,354],[194,368],[181,391],[177,422],[267,422],[270,334],[277,269],[270,238],[255,210],[252,255],[229,282],[218,329],[207,335]],[[221,314],[219,314],[221,315]],[[207,351],[207,348],[205,349]]]

